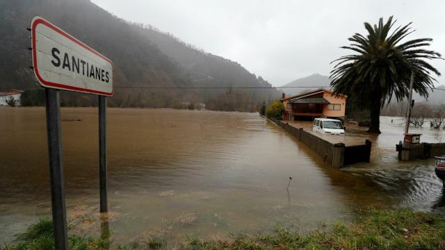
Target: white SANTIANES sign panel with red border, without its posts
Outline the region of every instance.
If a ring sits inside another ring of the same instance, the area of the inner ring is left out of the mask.
[[[42,17],[31,21],[33,68],[45,88],[113,95],[113,63]]]

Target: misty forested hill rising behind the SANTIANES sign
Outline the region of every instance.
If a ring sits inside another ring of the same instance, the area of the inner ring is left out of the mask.
[[[109,106],[175,107],[205,103],[213,110],[254,111],[280,97],[270,84],[238,63],[211,55],[156,28],[130,24],[87,0],[0,1],[0,89],[38,88],[31,65],[29,27],[40,15],[113,60],[116,88]],[[227,89],[147,89],[147,87],[227,87]],[[36,97],[37,98],[37,97]],[[38,101],[35,101],[38,102]],[[94,106],[88,94],[63,93],[67,106]]]

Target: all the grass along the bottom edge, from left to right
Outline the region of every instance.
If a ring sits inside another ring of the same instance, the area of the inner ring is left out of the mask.
[[[163,238],[144,243],[129,242],[111,246],[101,238],[69,238],[70,249],[165,249]],[[353,222],[336,222],[312,233],[291,233],[277,228],[269,235],[241,236],[207,241],[187,238],[182,249],[445,249],[445,218],[411,210],[369,208],[357,212]],[[3,250],[54,249],[52,223],[41,219],[17,235],[13,246]]]

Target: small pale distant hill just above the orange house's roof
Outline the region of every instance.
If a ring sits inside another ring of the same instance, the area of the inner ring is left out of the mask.
[[[311,76],[298,78],[297,80],[291,81],[290,83],[287,83],[286,85],[282,86],[282,87],[309,87],[309,88],[278,88],[278,89],[282,90],[284,93],[286,93],[287,96],[289,96],[329,85],[330,85],[329,76],[323,76],[321,74],[312,74]]]

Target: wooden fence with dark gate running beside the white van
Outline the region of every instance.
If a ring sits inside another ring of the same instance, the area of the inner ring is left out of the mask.
[[[318,156],[321,156],[323,162],[329,163],[334,167],[341,168],[354,163],[369,163],[372,144],[369,140],[366,140],[365,144],[362,145],[346,147],[343,143],[333,144],[323,140],[312,133],[304,131],[303,128],[296,128],[276,119],[270,120],[307,145]]]

